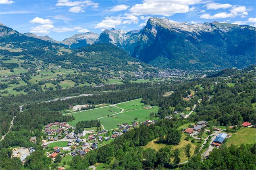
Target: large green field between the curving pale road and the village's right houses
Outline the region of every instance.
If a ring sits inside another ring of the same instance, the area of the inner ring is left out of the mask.
[[[113,117],[104,117],[100,119],[100,122],[102,125],[104,125],[105,129],[114,129],[117,128],[118,123],[128,123],[131,125],[132,121],[138,121],[142,122],[145,121],[146,119],[150,119],[150,113],[157,113],[158,112],[158,107],[154,107],[152,109],[136,109],[132,111],[127,111],[123,113],[119,113],[117,115],[114,115]],[[137,120],[135,120],[135,117],[137,117]],[[155,119],[155,118],[151,118]]]

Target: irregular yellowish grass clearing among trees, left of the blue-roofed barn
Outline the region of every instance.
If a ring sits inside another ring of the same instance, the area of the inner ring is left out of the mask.
[[[179,151],[180,151],[180,155],[179,155],[179,158],[181,158],[181,162],[184,162],[184,161],[187,161],[187,157],[186,157],[186,154],[184,152],[184,147],[190,143],[191,144],[191,149],[190,149],[190,154],[193,155],[194,154],[194,150],[196,148],[196,143],[192,143],[190,141],[186,141],[185,140],[185,137],[186,135],[182,133],[181,135],[181,142],[178,144],[178,145],[171,145],[171,147],[173,149],[176,149],[178,148]],[[200,144],[200,143],[198,143]],[[163,143],[156,143],[156,139],[150,141],[147,145],[145,146],[142,146],[143,149],[147,149],[147,148],[152,148],[156,151],[160,150],[162,147],[165,147],[167,146],[166,144],[163,144]]]

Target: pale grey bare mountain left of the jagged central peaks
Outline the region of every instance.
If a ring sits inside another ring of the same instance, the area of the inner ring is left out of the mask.
[[[98,37],[99,35],[97,33],[88,32],[83,34],[75,34],[72,37],[64,39],[60,42],[68,45],[71,48],[79,48],[92,45],[98,39]]]

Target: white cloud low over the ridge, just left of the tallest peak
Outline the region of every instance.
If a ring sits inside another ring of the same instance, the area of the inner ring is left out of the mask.
[[[100,23],[94,27],[95,29],[110,29],[115,28],[117,25],[121,24],[137,24],[139,18],[134,15],[125,14],[125,16],[107,16]]]

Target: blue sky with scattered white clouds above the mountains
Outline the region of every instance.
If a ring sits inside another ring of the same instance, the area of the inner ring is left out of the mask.
[[[142,29],[149,17],[256,27],[255,0],[0,0],[0,23],[61,41],[77,33]]]

